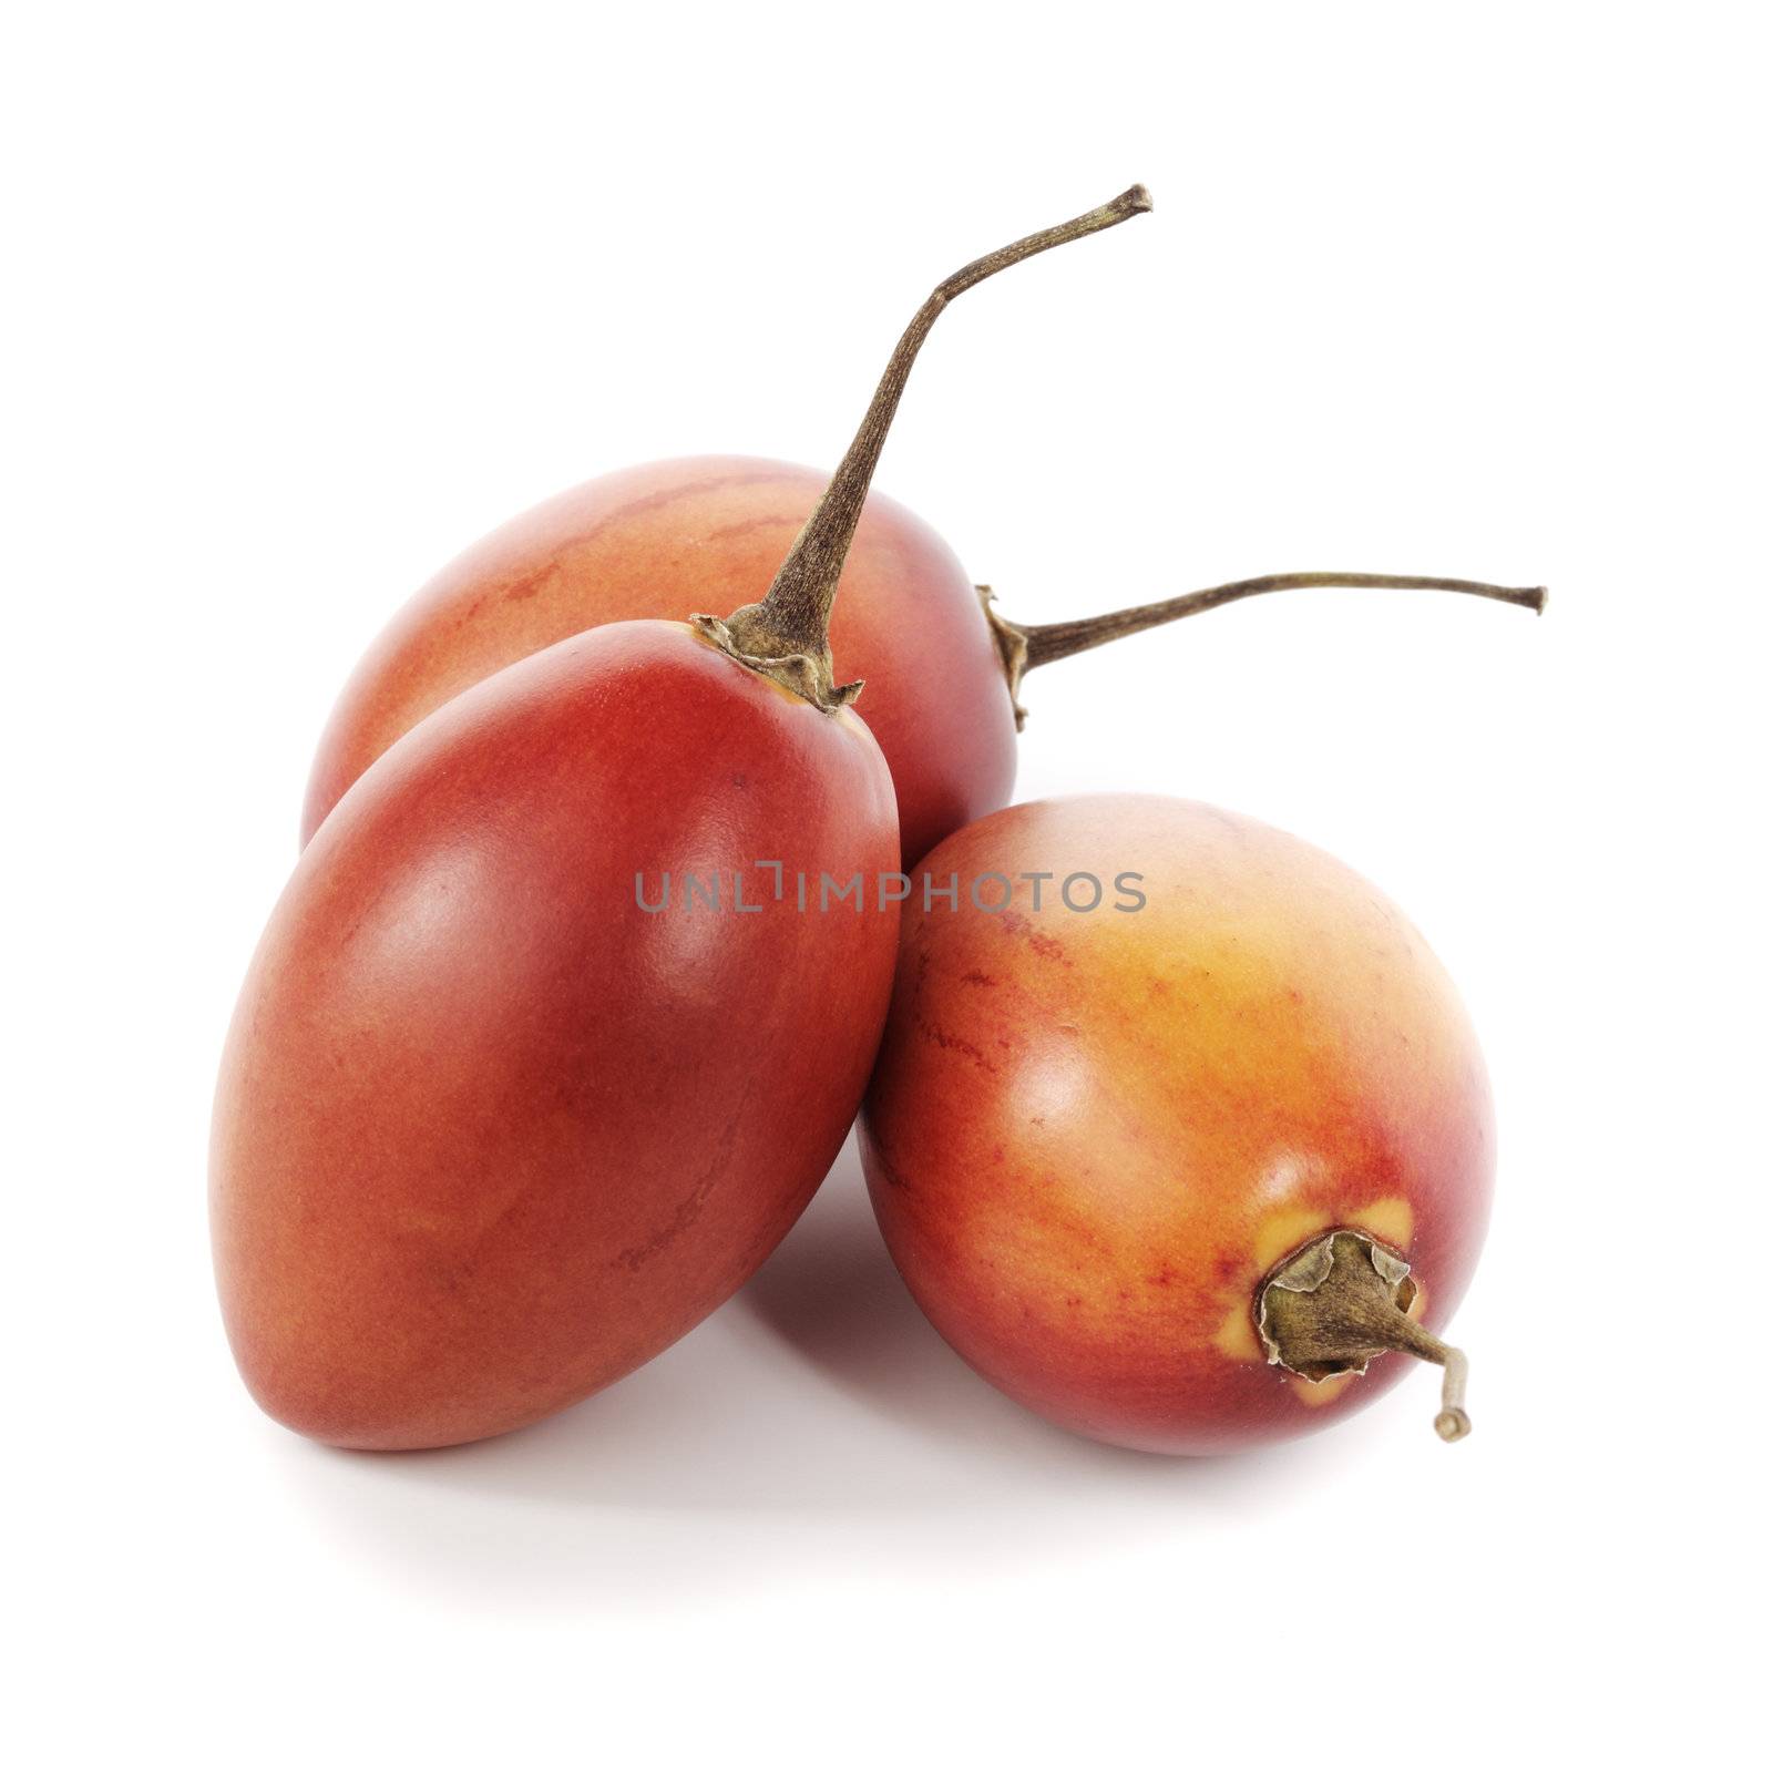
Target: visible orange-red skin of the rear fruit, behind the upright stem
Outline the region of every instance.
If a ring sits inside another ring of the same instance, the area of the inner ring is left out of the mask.
[[[333,709],[301,840],[402,732],[543,647],[637,617],[725,615],[761,598],[830,475],[745,456],[649,463],[587,480],[495,530],[383,629]],[[899,794],[906,865],[1002,807],[1016,722],[979,592],[943,539],[869,496],[832,613],[839,676]]]

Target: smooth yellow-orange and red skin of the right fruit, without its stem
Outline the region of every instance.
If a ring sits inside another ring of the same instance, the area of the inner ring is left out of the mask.
[[[1484,1064],[1397,908],[1284,832],[1156,796],[1011,807],[924,867],[959,876],[961,910],[906,908],[862,1149],[941,1335],[1030,1410],[1154,1452],[1301,1434],[1401,1378],[1401,1355],[1294,1378],[1252,1317],[1333,1225],[1404,1254],[1431,1328],[1477,1261]],[[1053,874],[1044,910],[1028,885],[972,908],[988,871]],[[1058,902],[1080,871],[1101,910]],[[1112,910],[1122,871],[1144,910]]]

